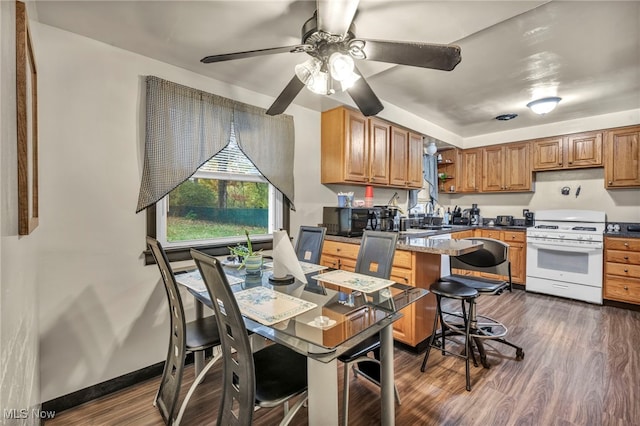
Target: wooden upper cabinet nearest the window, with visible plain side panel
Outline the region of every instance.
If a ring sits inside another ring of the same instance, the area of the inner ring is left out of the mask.
[[[389,184],[390,126],[360,112],[322,113],[321,182]]]

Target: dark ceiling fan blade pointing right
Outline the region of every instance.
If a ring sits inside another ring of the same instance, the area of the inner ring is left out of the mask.
[[[362,51],[370,61],[451,71],[460,63],[460,47],[402,41],[366,40]]]

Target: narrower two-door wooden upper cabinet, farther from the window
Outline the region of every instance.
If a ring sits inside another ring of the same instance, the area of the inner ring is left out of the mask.
[[[391,126],[389,186],[422,188],[422,135]]]

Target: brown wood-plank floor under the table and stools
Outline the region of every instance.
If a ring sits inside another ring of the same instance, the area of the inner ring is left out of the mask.
[[[465,390],[464,361],[432,351],[427,371],[422,354],[396,348],[402,405],[398,425],[638,425],[640,424],[640,312],[595,306],[514,290],[480,301],[483,313],[509,327],[509,340],[525,358],[489,343],[490,369],[472,367]],[[338,366],[336,376],[341,369]],[[185,388],[193,379],[187,369]],[[215,367],[187,409],[183,424],[215,424],[220,367]],[[158,379],[62,413],[55,425],[162,425],[152,405]],[[379,424],[378,389],[351,380],[350,424]],[[342,412],[342,407],[340,407]],[[259,410],[257,425],[277,424],[279,408]],[[306,409],[296,416],[306,424]]]

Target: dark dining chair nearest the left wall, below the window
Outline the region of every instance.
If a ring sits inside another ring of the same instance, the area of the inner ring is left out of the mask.
[[[160,411],[160,415],[165,424],[179,425],[195,388],[202,381],[206,372],[209,371],[213,364],[221,357],[220,354],[212,357],[191,384],[189,391],[182,401],[180,410],[177,410],[186,353],[196,353],[220,346],[221,340],[218,334],[218,324],[215,316],[199,318],[190,322],[186,321],[182,297],[180,296],[178,284],[166,252],[155,238],[147,237],[147,245],[160,269],[167,301],[169,302],[170,318],[167,359],[164,364],[162,379],[160,380],[160,387],[158,388],[154,405]]]

